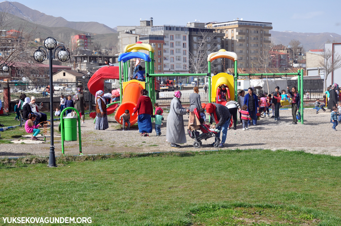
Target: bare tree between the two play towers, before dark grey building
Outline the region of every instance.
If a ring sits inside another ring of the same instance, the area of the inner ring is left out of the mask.
[[[207,56],[211,52],[218,51],[217,44],[220,45],[220,42],[217,43],[215,40],[216,33],[200,32],[196,41],[193,41],[193,51],[189,52],[189,70],[192,73],[207,72]],[[219,65],[222,65],[221,58],[211,64],[211,71],[218,70]],[[199,79],[197,83],[199,83]]]

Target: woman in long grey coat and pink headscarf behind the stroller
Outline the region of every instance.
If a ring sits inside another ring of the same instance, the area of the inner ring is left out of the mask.
[[[175,91],[174,98],[170,102],[170,114],[167,117],[166,139],[170,142],[171,148],[180,148],[177,143],[186,143],[186,133],[183,115],[189,112],[181,105],[181,92]]]

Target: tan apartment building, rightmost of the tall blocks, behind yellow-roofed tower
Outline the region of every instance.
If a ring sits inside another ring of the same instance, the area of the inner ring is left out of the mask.
[[[225,34],[224,49],[237,53],[239,68],[251,68],[252,64],[257,63],[257,54],[262,51],[262,48],[271,45],[269,31],[272,30],[272,23],[244,21],[237,18],[221,23],[210,22],[206,27]],[[231,60],[228,60],[227,64],[227,67],[233,67]]]

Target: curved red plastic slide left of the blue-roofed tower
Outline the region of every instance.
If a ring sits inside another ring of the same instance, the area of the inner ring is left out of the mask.
[[[104,90],[105,80],[119,79],[118,67],[103,67],[98,69],[88,82],[88,88],[91,94],[95,96],[98,90]],[[107,109],[107,114],[113,114],[118,104],[113,104]]]

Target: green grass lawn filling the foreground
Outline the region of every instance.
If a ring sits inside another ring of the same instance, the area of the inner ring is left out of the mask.
[[[95,226],[340,226],[340,163],[243,150],[0,165],[0,222],[70,216],[92,217]]]

